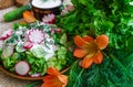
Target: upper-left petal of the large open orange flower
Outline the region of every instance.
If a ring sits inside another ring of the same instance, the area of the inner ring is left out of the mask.
[[[79,47],[83,47],[86,43],[80,35],[76,35],[74,36],[74,44]]]

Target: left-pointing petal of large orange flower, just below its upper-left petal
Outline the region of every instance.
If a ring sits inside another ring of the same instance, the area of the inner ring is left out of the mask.
[[[78,58],[82,58],[88,54],[83,48],[75,48],[73,55]]]

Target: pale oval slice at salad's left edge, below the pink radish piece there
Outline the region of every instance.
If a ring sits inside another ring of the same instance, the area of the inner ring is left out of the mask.
[[[3,52],[2,52],[2,57],[10,57],[13,54],[13,46],[12,45],[8,45],[3,47]]]

